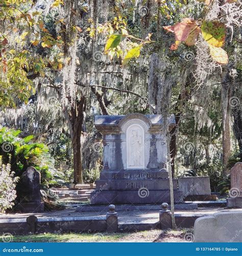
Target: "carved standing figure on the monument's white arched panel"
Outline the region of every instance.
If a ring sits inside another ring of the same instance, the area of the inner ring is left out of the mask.
[[[131,136],[131,166],[140,166],[140,148],[142,145],[142,136],[139,135],[139,130],[132,130]]]

